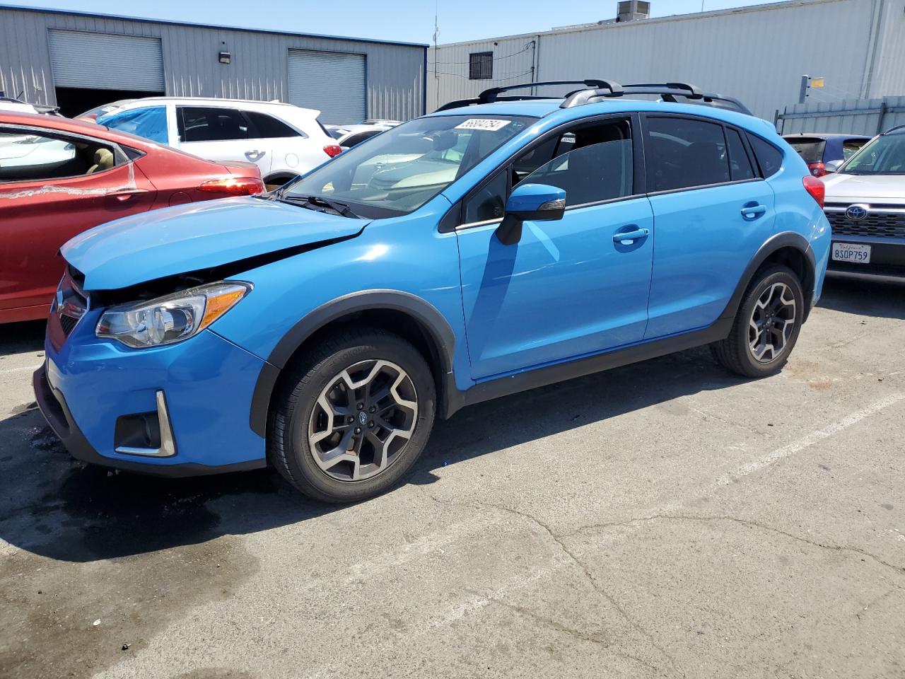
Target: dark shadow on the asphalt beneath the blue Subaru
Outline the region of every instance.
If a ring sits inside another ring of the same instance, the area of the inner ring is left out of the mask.
[[[434,483],[443,466],[740,381],[695,349],[474,406],[436,424],[409,483]],[[0,539],[52,559],[124,557],[342,510],[308,500],[270,469],[161,479],[81,464],[39,411],[0,420]]]

